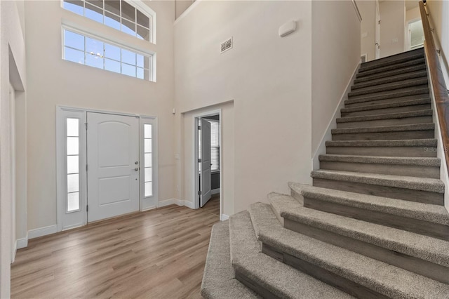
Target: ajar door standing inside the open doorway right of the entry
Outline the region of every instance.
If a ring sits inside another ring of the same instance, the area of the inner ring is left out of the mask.
[[[201,207],[208,202],[212,195],[210,166],[212,166],[210,161],[210,122],[201,119]]]

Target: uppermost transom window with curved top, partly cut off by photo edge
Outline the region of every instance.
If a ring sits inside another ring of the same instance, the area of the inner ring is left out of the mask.
[[[62,7],[153,43],[154,16],[124,0],[63,0]]]

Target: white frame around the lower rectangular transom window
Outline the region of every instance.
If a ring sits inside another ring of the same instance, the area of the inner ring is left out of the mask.
[[[61,58],[62,60],[65,60],[65,44],[64,44],[64,31],[68,30],[71,32],[74,32],[76,34],[81,34],[83,36],[89,37],[91,39],[98,39],[99,41],[102,41],[107,44],[112,44],[113,46],[118,46],[119,48],[123,48],[128,51],[132,51],[134,53],[138,53],[140,55],[144,55],[149,58],[151,67],[149,68],[149,78],[147,81],[150,82],[156,82],[156,53],[153,51],[149,51],[145,48],[138,47],[138,46],[128,46],[126,44],[123,44],[118,39],[111,39],[106,36],[102,36],[100,34],[94,34],[92,32],[88,32],[88,28],[82,27],[80,25],[74,24],[73,22],[69,22],[66,20],[62,20],[61,25]],[[66,60],[69,61],[69,60]],[[88,67],[88,65],[83,64],[84,66]],[[104,71],[107,71],[107,69],[103,69]],[[107,71],[110,72],[110,71]],[[119,73],[116,73],[119,74]],[[123,74],[124,75],[124,74]],[[128,75],[124,75],[126,77],[130,77]],[[139,79],[137,77],[134,77],[136,79]],[[140,79],[142,80],[142,79]],[[145,79],[144,79],[145,80]]]

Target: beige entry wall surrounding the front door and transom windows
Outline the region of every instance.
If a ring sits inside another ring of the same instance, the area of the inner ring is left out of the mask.
[[[60,7],[26,1],[28,230],[56,225],[57,105],[146,114],[159,118],[159,199],[175,197],[173,177],[173,1],[148,1],[157,14],[157,83],[62,60],[61,20],[134,39]],[[45,17],[43,17],[45,16]],[[145,41],[141,41],[145,43]]]

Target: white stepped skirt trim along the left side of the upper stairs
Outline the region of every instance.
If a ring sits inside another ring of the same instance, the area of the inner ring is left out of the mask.
[[[344,90],[344,92],[340,98],[340,102],[338,103],[337,107],[335,107],[335,111],[334,111],[332,118],[329,121],[328,128],[326,129],[326,132],[324,133],[323,138],[321,138],[319,147],[316,149],[314,156],[311,158],[311,170],[312,171],[316,171],[320,168],[319,155],[326,154],[326,141],[332,140],[331,131],[333,128],[337,128],[336,119],[341,116],[340,109],[342,109],[342,107],[344,107],[344,101],[348,99],[348,93],[349,93],[349,91],[351,91],[351,86],[354,82],[354,79],[356,79],[356,75],[357,75],[359,67],[360,67],[360,64],[358,64],[356,66],[356,69],[354,69],[354,73],[352,74],[351,79],[349,79],[346,89]]]

